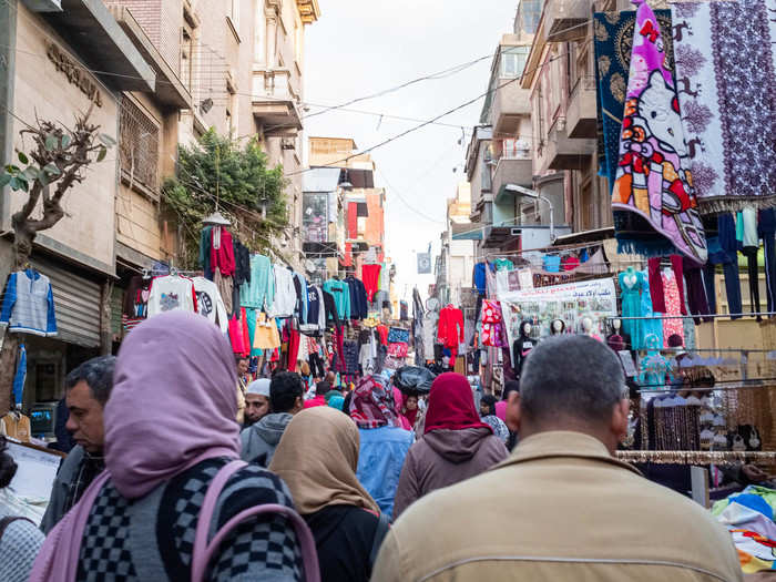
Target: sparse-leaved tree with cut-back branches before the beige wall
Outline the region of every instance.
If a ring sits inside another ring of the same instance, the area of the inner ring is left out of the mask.
[[[67,192],[83,182],[86,167],[101,162],[108,147],[115,145],[112,137],[98,133],[99,125],[90,123],[93,106],[92,103],[86,113],[76,116],[72,130],[35,120],[35,126],[28,125],[19,132],[22,141],[28,135],[32,137],[32,146],[27,152],[17,150],[21,166],[8,164],[0,173],[0,188],[9,185],[13,191],[27,192],[24,205],[11,216],[14,270],[28,265],[38,233],[64,216],[62,198]],[[41,201],[41,212],[37,212]],[[6,334],[0,350],[0,415],[10,408],[18,344],[16,334]]]

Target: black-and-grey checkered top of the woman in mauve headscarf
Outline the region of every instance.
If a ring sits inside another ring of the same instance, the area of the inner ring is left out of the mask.
[[[188,580],[200,509],[207,486],[227,461],[216,458],[197,463],[163,484],[162,491],[151,493],[154,501],[150,503],[129,501],[108,482],[86,521],[75,580]],[[242,510],[262,503],[293,507],[278,477],[247,466],[224,487],[211,537]],[[303,578],[296,535],[280,515],[248,520],[235,528],[210,565],[212,581]]]

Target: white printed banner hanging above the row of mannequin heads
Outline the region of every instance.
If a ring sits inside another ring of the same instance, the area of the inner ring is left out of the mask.
[[[565,333],[581,333],[582,319],[590,317],[593,335],[601,337],[603,319],[617,315],[611,277],[515,290],[500,295],[499,299],[510,347],[520,336],[520,324],[524,320],[533,326],[531,337],[539,339],[550,335],[553,319],[563,320]]]

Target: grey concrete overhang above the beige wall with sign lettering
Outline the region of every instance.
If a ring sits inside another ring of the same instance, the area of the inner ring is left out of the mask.
[[[42,16],[91,69],[111,72],[102,76],[108,84],[124,91],[156,88],[156,73],[102,0],[62,0],[62,12]]]

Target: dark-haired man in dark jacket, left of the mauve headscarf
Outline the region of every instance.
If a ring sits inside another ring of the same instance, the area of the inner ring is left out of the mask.
[[[114,356],[101,356],[81,364],[64,379],[65,425],[76,446],[62,461],[51,489],[41,530],[49,533],[70,511],[94,478],[105,468],[105,427],[102,413],[113,388]]]

